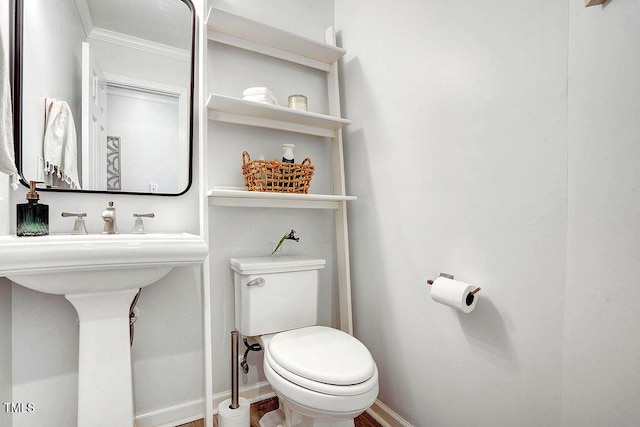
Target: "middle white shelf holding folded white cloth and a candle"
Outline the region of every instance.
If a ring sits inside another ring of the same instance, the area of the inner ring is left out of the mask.
[[[340,117],[293,110],[278,105],[245,101],[217,94],[209,96],[207,108],[210,120],[328,138],[335,138],[339,129],[351,123],[351,120]]]

